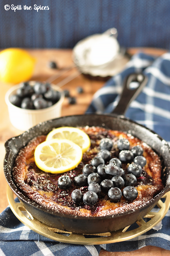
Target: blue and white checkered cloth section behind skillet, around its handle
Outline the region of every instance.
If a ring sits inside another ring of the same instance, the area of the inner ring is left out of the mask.
[[[126,117],[170,142],[170,53],[157,59],[143,53],[134,55],[122,73],[110,78],[94,94],[87,113],[110,113],[118,102],[124,78],[137,72],[144,72],[148,83],[130,104]]]

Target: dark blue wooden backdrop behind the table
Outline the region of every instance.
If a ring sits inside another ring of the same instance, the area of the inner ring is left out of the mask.
[[[50,10],[6,11],[5,4]],[[112,27],[121,46],[170,49],[170,0],[0,1],[0,48],[72,48]]]

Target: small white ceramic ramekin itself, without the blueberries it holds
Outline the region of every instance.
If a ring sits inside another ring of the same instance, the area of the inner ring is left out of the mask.
[[[30,82],[31,85],[34,85],[34,83],[34,81]],[[39,124],[40,122],[44,122],[46,120],[58,118],[61,116],[61,107],[62,102],[64,100],[64,92],[54,84],[51,84],[51,86],[54,90],[60,91],[60,100],[56,104],[40,110],[29,110],[19,108],[14,106],[10,102],[10,96],[16,94],[16,90],[20,87],[20,84],[12,86],[12,88],[8,90],[8,92],[5,95],[5,101],[8,105],[10,121],[14,127],[16,127],[19,130],[25,131],[31,128],[32,126]]]

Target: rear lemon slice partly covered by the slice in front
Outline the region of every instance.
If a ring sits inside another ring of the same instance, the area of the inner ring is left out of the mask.
[[[75,127],[59,127],[52,130],[46,137],[46,140],[52,139],[66,139],[76,143],[82,149],[82,152],[86,152],[90,147],[90,138],[82,130]]]

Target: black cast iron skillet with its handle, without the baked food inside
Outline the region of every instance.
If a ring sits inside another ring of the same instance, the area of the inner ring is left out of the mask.
[[[136,79],[140,86],[135,90],[130,90],[128,88],[130,82]],[[6,141],[6,155],[4,159],[4,173],[6,180],[10,188],[13,190],[19,200],[22,201],[25,208],[32,214],[32,216],[41,222],[48,224],[49,226],[74,233],[94,234],[111,232],[124,228],[133,224],[135,221],[140,220],[140,218],[144,217],[148,212],[150,212],[158,200],[160,200],[160,198],[170,190],[170,148],[168,143],[165,142],[155,132],[122,116],[132,99],[134,99],[142,90],[142,87],[146,84],[146,80],[147,79],[141,74],[132,74],[126,79],[120,102],[114,110],[114,113],[116,112],[117,115],[86,114],[79,116],[65,116],[54,120],[48,120],[42,124],[38,124],[20,136],[11,138]],[[112,130],[128,132],[151,146],[152,149],[162,159],[162,181],[165,186],[164,189],[154,198],[152,198],[152,200],[150,200],[146,205],[138,208],[137,210],[132,209],[126,213],[103,217],[74,217],[71,215],[59,214],[52,212],[52,210],[47,211],[42,206],[39,206],[35,202],[32,202],[26,198],[22,192],[18,190],[12,179],[12,168],[19,150],[23,148],[35,136],[48,134],[48,132],[50,132],[54,127],[76,127],[86,125],[101,126]]]

